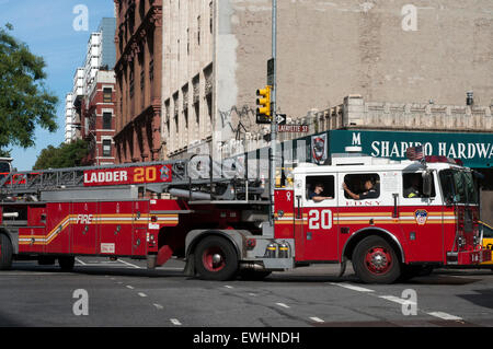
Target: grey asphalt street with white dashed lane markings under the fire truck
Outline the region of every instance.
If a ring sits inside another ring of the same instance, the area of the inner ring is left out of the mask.
[[[318,265],[263,281],[185,277],[173,259],[78,257],[72,272],[16,261],[0,272],[0,326],[480,327],[493,326],[493,271],[439,269],[395,284],[363,284]]]

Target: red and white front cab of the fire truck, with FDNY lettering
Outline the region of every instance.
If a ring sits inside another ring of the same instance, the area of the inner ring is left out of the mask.
[[[344,154],[328,166],[302,164],[275,202],[275,237],[289,241],[295,265],[351,260],[363,281],[389,283],[488,259],[472,172],[446,159]]]

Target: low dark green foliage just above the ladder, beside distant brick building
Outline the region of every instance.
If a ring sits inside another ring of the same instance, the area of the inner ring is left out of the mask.
[[[68,144],[61,143],[57,148],[48,146],[37,156],[33,170],[84,166],[87,164],[83,160],[89,153],[88,146],[88,142],[83,140],[77,140]]]

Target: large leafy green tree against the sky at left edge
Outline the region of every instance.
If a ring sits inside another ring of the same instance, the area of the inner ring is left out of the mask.
[[[12,25],[0,27],[0,154],[10,146],[35,146],[36,126],[54,132],[58,97],[44,84],[46,63],[27,45],[9,34]]]

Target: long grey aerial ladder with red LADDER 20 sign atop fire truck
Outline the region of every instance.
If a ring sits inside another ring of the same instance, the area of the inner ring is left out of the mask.
[[[229,175],[225,175],[222,163],[213,161],[210,156],[199,155],[190,160],[11,172],[0,178],[0,201],[103,197],[129,199],[163,194],[200,202],[228,203],[268,199],[268,190],[265,190],[262,181],[249,178],[246,166],[237,168],[237,165],[238,163],[232,164],[226,171]],[[142,168],[142,176],[133,181],[126,173],[136,172],[136,168]],[[145,175],[146,168],[153,171],[154,175],[150,181]],[[165,174],[157,173],[159,168],[164,168]],[[116,172],[125,173],[127,181],[105,181],[105,174],[111,177]],[[102,181],[94,185],[91,176],[95,181]]]

